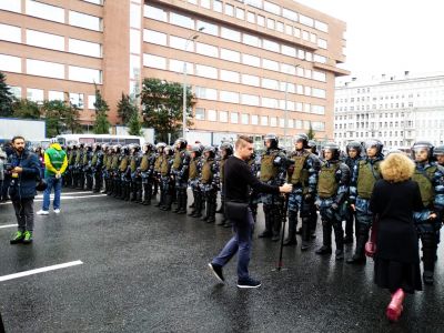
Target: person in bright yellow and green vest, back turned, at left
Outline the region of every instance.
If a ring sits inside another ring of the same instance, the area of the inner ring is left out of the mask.
[[[60,213],[60,195],[62,192],[62,174],[68,167],[67,153],[62,150],[56,139],[51,139],[49,149],[44,152],[44,180],[48,183],[43,193],[43,206],[37,212],[38,215],[48,215],[50,205],[50,195],[54,189],[53,208],[54,213]]]

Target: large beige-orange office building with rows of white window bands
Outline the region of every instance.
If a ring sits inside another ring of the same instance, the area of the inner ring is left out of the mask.
[[[118,123],[122,92],[159,78],[192,87],[190,140],[310,125],[332,140],[344,31],[291,0],[0,0],[0,71],[18,97],[70,99],[84,124],[94,84]]]

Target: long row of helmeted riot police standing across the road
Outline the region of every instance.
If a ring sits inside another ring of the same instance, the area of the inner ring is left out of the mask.
[[[315,238],[319,212],[322,246],[315,253],[325,255],[333,252],[333,233],[336,260],[344,260],[344,245],[355,242],[354,254],[346,262],[365,264],[365,244],[376,218],[369,204],[373,185],[382,178],[383,143],[380,140],[369,140],[363,144],[351,142],[346,145],[345,157],[333,142],[326,143],[317,155],[315,143],[303,133],[295,135],[293,143],[294,149],[285,151],[280,148],[275,134],[266,134],[264,151],[260,155],[253,154],[248,162],[252,174],[262,182],[273,185],[289,182],[293,185],[287,196],[251,193],[250,208],[254,220],[259,203],[263,205],[265,218],[265,229],[259,238],[278,242],[284,232],[283,219],[287,218],[289,230],[283,245],[297,245],[296,234],[300,234],[301,251],[307,251]],[[158,199],[155,205],[160,210],[189,213],[208,223],[230,228],[231,222],[224,216],[223,209],[223,171],[224,162],[233,154],[233,147],[223,143],[219,149],[202,144],[188,148],[182,138],[173,145],[69,147],[69,167],[63,182],[68,188],[103,190],[115,199],[143,205],[151,205]],[[444,147],[434,148],[425,141],[414,143],[412,159],[416,170],[412,179],[420,185],[424,205],[422,211],[414,213],[414,222],[422,242],[423,281],[426,284],[434,282],[444,209],[444,168],[436,158],[444,164]],[[192,200],[188,198],[188,188]],[[221,198],[219,211],[218,193]],[[189,202],[192,202],[190,206]],[[191,208],[190,212],[188,208]],[[216,212],[222,214],[219,221]],[[431,219],[432,214],[436,218]],[[297,229],[299,220],[301,226]]]

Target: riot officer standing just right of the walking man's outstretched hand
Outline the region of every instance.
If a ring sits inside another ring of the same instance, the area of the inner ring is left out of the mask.
[[[305,133],[294,137],[294,148],[290,154],[290,159],[294,162],[289,168],[289,182],[293,184],[293,190],[289,196],[289,236],[284,241],[284,245],[297,243],[295,232],[297,212],[300,212],[302,220],[301,250],[305,251],[309,249],[310,216],[316,194],[320,160],[307,149],[309,137]]]

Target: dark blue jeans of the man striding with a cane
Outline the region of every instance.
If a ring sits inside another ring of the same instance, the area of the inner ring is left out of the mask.
[[[212,261],[213,264],[224,266],[230,259],[238,252],[238,278],[239,280],[249,279],[249,263],[252,245],[254,220],[249,209],[246,221],[235,221],[233,223],[233,238],[225,244],[221,253]]]

